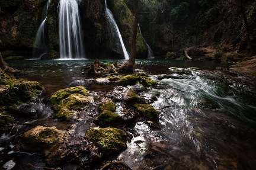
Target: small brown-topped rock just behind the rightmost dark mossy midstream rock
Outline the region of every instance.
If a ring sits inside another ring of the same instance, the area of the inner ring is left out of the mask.
[[[127,90],[126,93],[123,95],[123,101],[126,105],[134,105],[137,103],[143,104],[145,100],[136,94],[136,92],[132,90]]]

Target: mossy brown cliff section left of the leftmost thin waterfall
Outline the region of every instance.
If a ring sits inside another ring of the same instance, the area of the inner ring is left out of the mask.
[[[1,1],[0,50],[20,52],[33,47],[45,3],[46,0]]]

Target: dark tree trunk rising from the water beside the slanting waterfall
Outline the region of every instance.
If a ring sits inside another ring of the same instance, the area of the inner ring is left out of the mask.
[[[120,67],[120,71],[132,71],[135,68],[135,59],[137,54],[136,38],[137,38],[137,24],[139,23],[139,0],[133,0],[134,5],[134,21],[131,37],[131,54],[129,60]]]

